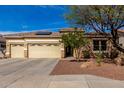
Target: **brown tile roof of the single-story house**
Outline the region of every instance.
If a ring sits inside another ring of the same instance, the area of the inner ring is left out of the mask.
[[[8,34],[4,35],[4,37],[7,38],[60,38],[63,32],[68,31],[75,31],[74,28],[63,28],[59,32],[52,32],[50,35],[36,35],[37,32],[45,32],[45,31],[35,31],[35,32],[26,32],[26,33],[16,33],[16,34]],[[78,28],[78,31],[83,31],[82,29]],[[49,31],[47,31],[49,32]],[[85,33],[85,37],[111,37],[110,34],[104,35],[96,32],[89,32]]]

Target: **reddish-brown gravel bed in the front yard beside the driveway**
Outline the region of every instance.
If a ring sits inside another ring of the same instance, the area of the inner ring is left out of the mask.
[[[89,74],[116,80],[124,80],[124,66],[114,63],[102,63],[97,66],[95,62],[73,62],[60,60],[50,75]]]

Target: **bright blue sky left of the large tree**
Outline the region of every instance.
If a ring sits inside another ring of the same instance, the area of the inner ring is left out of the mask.
[[[64,19],[67,6],[0,6],[0,33],[52,30],[69,27]]]

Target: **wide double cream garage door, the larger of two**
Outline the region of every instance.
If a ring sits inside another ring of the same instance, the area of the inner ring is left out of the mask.
[[[60,58],[59,44],[31,44],[29,45],[29,58]]]

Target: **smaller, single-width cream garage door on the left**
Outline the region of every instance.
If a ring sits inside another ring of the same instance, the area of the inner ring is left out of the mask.
[[[24,58],[24,45],[23,44],[11,45],[11,58]]]

